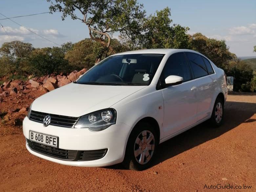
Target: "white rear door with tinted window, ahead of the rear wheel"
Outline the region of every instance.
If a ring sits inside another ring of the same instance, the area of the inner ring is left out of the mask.
[[[205,65],[205,62],[208,60],[203,56],[189,52],[186,53],[186,56],[197,83],[197,121],[200,121],[209,117],[212,111],[210,107],[216,85],[214,81],[214,71],[210,63]]]

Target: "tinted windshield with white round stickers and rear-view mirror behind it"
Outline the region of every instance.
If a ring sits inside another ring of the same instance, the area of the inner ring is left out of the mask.
[[[75,83],[91,85],[149,85],[164,54],[124,54],[98,63]]]

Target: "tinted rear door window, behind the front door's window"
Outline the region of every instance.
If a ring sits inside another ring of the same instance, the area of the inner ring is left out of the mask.
[[[191,64],[191,68],[192,68],[195,78],[199,78],[199,77],[208,75],[206,66],[203,62],[203,58],[201,57],[201,55],[196,54],[196,53],[186,53],[186,55]]]

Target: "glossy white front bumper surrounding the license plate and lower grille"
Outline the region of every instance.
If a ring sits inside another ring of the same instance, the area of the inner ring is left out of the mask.
[[[26,143],[28,151],[37,157],[65,165],[108,166],[123,161],[131,127],[124,123],[111,125],[102,131],[92,131],[88,128],[64,128],[53,125],[44,127],[42,123],[25,117],[23,120],[23,134],[26,139],[29,139],[30,130],[59,137],[58,148],[60,149],[81,151],[107,149],[106,155],[98,160],[67,161],[37,153]]]

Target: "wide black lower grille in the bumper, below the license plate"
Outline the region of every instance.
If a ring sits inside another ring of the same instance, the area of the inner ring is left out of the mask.
[[[87,151],[77,151],[77,150],[66,150],[59,149],[56,147],[51,147],[41,143],[37,143],[27,139],[27,143],[31,150],[60,160],[68,161],[91,161],[103,158],[108,149],[99,150],[87,150]]]

